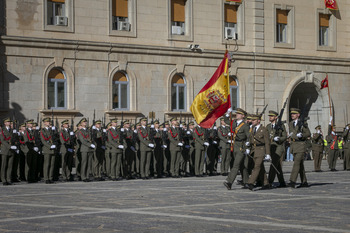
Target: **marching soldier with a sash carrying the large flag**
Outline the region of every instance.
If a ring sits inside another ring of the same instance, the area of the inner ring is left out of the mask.
[[[230,111],[231,109],[229,109]],[[249,125],[244,122],[244,116],[246,112],[243,109],[237,108],[236,110],[236,119],[230,122],[229,114],[225,115],[226,124],[230,124],[231,134],[234,134],[234,147],[233,147],[233,156],[234,164],[233,168],[230,171],[224,185],[227,189],[231,189],[233,181],[236,179],[238,171],[241,171],[243,184],[248,182],[248,170],[245,165],[245,149],[249,146]]]

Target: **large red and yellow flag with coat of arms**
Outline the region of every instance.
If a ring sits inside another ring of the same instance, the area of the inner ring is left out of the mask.
[[[197,94],[191,105],[191,112],[197,124],[203,128],[213,126],[216,119],[231,107],[228,75],[229,56],[226,51],[225,57],[214,75]]]

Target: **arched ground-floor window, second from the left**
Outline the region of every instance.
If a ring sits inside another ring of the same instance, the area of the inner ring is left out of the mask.
[[[129,79],[124,72],[117,72],[113,76],[112,103],[115,110],[129,109]]]

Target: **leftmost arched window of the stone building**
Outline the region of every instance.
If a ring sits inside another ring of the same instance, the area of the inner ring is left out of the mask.
[[[53,68],[48,75],[48,109],[67,108],[67,78],[63,69]]]

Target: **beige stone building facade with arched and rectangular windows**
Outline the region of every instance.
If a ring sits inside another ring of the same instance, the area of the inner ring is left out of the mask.
[[[323,0],[4,0],[0,115],[191,118],[225,49],[233,106],[307,109],[310,128],[348,122],[350,2]],[[267,119],[267,114],[265,114]],[[284,118],[288,120],[288,114]]]

